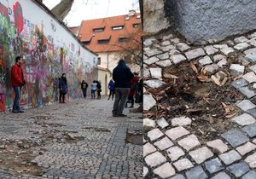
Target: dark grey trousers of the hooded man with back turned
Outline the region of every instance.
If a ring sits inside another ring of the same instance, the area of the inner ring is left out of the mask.
[[[113,114],[121,114],[125,108],[125,101],[127,100],[129,89],[115,89],[115,99],[113,102]]]

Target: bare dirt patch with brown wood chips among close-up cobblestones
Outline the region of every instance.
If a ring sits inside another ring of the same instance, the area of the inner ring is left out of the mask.
[[[146,88],[157,105],[143,113],[144,118],[164,117],[170,123],[172,118],[188,116],[193,120],[190,131],[201,141],[215,139],[233,127],[230,118],[239,113],[235,102],[242,99],[241,94],[230,87],[234,80],[230,73],[224,73],[227,81],[218,86],[212,82],[211,74],[191,62],[164,69],[163,81],[166,85],[158,89]]]

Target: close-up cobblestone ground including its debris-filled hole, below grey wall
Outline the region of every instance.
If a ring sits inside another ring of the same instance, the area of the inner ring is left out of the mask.
[[[256,178],[255,47],[256,32],[144,40],[145,178]]]

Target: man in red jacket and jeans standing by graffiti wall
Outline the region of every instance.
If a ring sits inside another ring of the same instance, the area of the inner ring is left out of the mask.
[[[24,111],[20,110],[21,87],[26,84],[22,69],[20,67],[22,60],[23,59],[20,56],[17,56],[15,59],[15,65],[12,66],[11,70],[11,82],[15,90],[15,101],[12,113],[24,113]]]

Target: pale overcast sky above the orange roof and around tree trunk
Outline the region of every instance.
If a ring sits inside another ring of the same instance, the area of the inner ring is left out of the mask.
[[[134,9],[139,12],[139,0],[74,0],[73,7],[65,22],[67,26],[80,26],[82,20],[98,19],[115,15],[128,14]],[[61,0],[43,0],[52,9]]]

